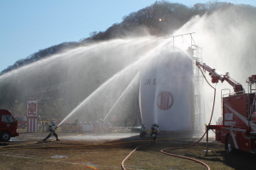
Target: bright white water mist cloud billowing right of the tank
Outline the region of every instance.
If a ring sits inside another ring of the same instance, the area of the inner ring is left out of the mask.
[[[195,32],[195,42],[202,50],[203,62],[225,74],[230,72],[230,77],[240,82],[247,90],[247,77],[255,74],[256,65],[256,18],[255,9],[247,6],[234,6],[218,10],[212,14],[196,16],[175,32]],[[210,80],[210,77],[206,75]],[[215,105],[212,124],[221,116],[221,96],[223,88],[230,87],[228,82],[219,82],[217,88],[217,102]],[[206,105],[207,120],[212,110],[213,91],[205,83],[204,105]]]

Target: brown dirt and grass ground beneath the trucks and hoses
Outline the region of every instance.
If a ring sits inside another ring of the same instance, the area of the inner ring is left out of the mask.
[[[1,169],[122,169],[121,163],[138,146],[148,145],[148,137],[139,138],[137,133],[58,133],[61,141],[51,137],[39,142],[48,133],[20,133],[9,145],[0,145]],[[125,168],[136,170],[207,169],[195,161],[167,156],[160,150],[194,144],[199,137],[177,134],[159,134],[157,144],[139,148],[125,161]],[[253,170],[255,156],[240,152],[227,155],[224,144],[210,139],[208,149],[203,139],[199,144],[182,150],[166,152],[187,156],[207,163],[211,169]]]

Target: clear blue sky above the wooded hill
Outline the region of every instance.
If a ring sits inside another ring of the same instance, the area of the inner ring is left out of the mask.
[[[209,0],[167,0],[192,7]],[[215,2],[210,1],[210,2]],[[256,6],[256,0],[223,0]],[[0,71],[40,49],[79,42],[155,0],[0,0]]]

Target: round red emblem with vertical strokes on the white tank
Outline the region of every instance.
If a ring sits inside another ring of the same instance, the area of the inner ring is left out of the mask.
[[[162,111],[169,110],[172,107],[173,102],[174,99],[170,92],[163,91],[157,95],[156,105]]]

